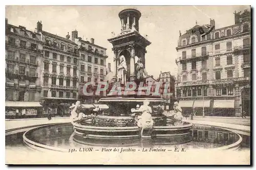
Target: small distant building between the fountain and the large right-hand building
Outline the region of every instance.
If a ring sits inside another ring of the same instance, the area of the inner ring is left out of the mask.
[[[166,102],[166,106],[165,109],[170,109],[172,110],[174,101],[175,101],[175,76],[170,75],[170,72],[160,72],[159,75],[159,82],[162,82],[162,91],[164,89],[165,86],[168,87],[168,93],[172,93],[172,95],[169,94],[164,94],[162,93],[162,98],[165,100]],[[167,84],[167,85],[166,85]]]

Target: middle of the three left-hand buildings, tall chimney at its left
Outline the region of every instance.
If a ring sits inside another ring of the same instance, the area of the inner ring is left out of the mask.
[[[44,45],[41,73],[41,99],[43,113],[69,115],[69,107],[78,100],[78,63],[77,44],[66,38],[42,30],[37,22],[37,33]]]

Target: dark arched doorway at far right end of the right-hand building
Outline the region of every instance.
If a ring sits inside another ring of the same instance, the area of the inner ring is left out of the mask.
[[[250,88],[244,88],[241,92],[242,98],[242,112],[246,112],[246,116],[250,116],[251,114],[251,98],[250,98]]]

